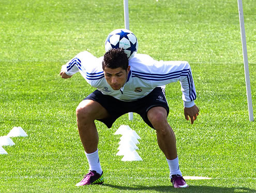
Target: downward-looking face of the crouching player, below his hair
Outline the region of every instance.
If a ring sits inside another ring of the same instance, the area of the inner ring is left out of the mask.
[[[129,71],[130,66],[128,66],[127,70],[121,67],[114,69],[106,67],[104,69],[104,76],[113,90],[119,90],[125,85]]]

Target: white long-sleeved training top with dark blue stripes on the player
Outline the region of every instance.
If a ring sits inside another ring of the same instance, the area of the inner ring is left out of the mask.
[[[192,107],[196,98],[191,68],[186,61],[156,61],[144,54],[136,54],[129,60],[130,72],[120,91],[115,91],[104,78],[103,57],[96,58],[88,51],[80,52],[66,64],[65,73],[78,72],[104,95],[118,100],[132,101],[148,95],[157,86],[180,81],[185,107]]]

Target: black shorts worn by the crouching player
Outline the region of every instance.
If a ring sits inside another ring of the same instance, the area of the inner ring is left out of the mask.
[[[153,127],[147,118],[147,112],[153,107],[164,107],[169,114],[169,107],[167,100],[165,98],[165,91],[161,87],[156,87],[147,96],[134,101],[122,101],[118,100],[110,95],[103,95],[100,91],[96,90],[90,95],[88,95],[84,100],[94,100],[101,104],[108,113],[110,117],[106,119],[99,119],[108,128],[111,128],[115,120],[129,112],[138,113],[142,119],[146,122],[149,127]]]

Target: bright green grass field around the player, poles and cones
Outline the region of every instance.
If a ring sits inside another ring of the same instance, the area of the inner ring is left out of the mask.
[[[256,1],[244,0],[254,111]],[[168,120],[188,189],[174,189],[156,134],[134,114],[111,129],[96,122],[106,183],[76,187],[88,164],[76,107],[94,91],[80,74],[64,80],[61,66],[78,52],[100,57],[110,31],[124,28],[123,0],[0,1],[0,136],[21,126],[28,137],[0,155],[0,192],[256,192],[256,125],[249,122],[237,1],[129,0],[130,29],[139,53],[186,60],[200,108],[193,125],[183,115],[179,83],[167,86]],[[254,112],[256,113],[256,111]],[[142,162],[116,156],[114,132],[129,125],[141,137]]]

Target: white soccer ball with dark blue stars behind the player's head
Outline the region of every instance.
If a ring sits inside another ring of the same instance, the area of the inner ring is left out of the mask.
[[[106,52],[113,48],[124,48],[128,59],[132,59],[138,50],[138,40],[128,29],[116,29],[112,31],[105,41]]]

